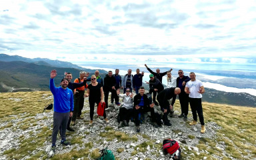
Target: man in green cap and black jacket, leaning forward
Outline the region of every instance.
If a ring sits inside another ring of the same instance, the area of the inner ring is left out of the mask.
[[[155,103],[155,105],[158,105],[157,101],[155,101],[155,97],[157,96],[157,93],[163,91],[164,87],[163,84],[159,81],[159,79],[155,78],[153,74],[150,74],[149,78],[149,82],[146,82],[149,84],[149,93],[153,93],[153,102]]]

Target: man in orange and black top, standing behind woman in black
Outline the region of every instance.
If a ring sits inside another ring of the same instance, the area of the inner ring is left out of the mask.
[[[81,71],[80,72],[80,77],[75,79],[74,83],[81,83],[83,82],[83,79],[86,77],[86,72],[85,71]],[[83,95],[85,95],[85,88],[87,88],[88,85],[86,84],[85,86],[82,87],[78,87],[77,89],[74,90],[74,99],[75,99],[75,108],[74,108],[74,114],[72,117],[72,122],[71,125],[75,125],[75,121],[77,119],[83,119],[83,117],[81,117],[82,115],[82,109],[83,109],[83,104],[84,104],[84,97]]]

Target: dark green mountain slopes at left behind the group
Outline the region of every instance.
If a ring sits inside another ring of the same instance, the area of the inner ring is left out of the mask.
[[[0,77],[0,92],[13,91],[13,87],[14,90],[17,88],[29,88],[27,91],[33,91],[33,89],[48,91],[50,72],[53,69],[57,70],[56,85],[59,85],[65,72],[73,73],[73,80],[75,80],[75,78],[79,77],[79,72],[81,71],[75,68],[37,65],[24,61],[0,61],[0,74],[2,75]],[[94,73],[94,70],[91,69],[85,69],[84,71]],[[105,71],[101,73],[101,76],[105,77],[105,73]]]

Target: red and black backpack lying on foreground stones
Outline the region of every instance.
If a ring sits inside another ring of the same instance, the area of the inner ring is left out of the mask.
[[[163,153],[167,155],[168,153],[172,156],[172,159],[181,159],[181,148],[179,143],[175,140],[165,139],[163,140]]]

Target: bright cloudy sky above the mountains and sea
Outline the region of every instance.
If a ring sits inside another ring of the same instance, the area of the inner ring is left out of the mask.
[[[255,28],[255,0],[0,1],[0,53],[72,63],[255,64]]]

